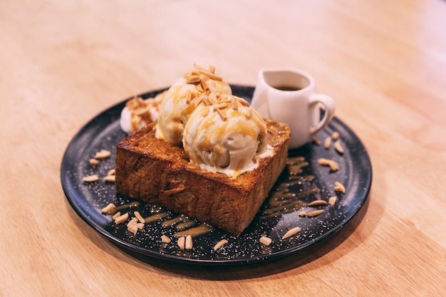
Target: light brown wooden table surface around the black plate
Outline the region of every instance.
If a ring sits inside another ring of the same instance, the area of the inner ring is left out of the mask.
[[[1,1],[1,296],[440,296],[446,289],[446,2]],[[193,63],[254,85],[311,73],[373,164],[323,244],[246,266],[129,254],[68,204],[63,152],[100,111]]]

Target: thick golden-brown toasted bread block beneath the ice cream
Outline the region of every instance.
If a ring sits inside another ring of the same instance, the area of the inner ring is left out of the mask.
[[[237,178],[191,165],[182,147],[155,137],[155,123],[125,137],[116,149],[118,193],[241,234],[254,219],[288,156],[289,127],[268,122],[274,155]]]

